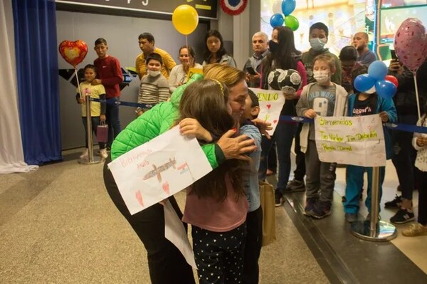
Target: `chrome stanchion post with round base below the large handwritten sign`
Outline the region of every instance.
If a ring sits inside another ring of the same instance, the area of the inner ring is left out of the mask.
[[[391,241],[396,238],[396,227],[379,220],[379,167],[372,168],[371,219],[352,223],[352,234],[366,241]]]

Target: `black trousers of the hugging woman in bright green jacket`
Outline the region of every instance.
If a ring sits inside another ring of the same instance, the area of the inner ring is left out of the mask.
[[[107,168],[111,162],[108,157],[104,164],[104,183],[111,200],[120,213],[125,216],[139,239],[144,243],[147,250],[149,276],[153,284],[193,284],[195,283],[193,270],[186,263],[184,256],[173,243],[164,237],[164,209],[161,204],[154,204],[149,208],[130,215],[123,201],[114,177]],[[169,197],[179,218],[182,217],[181,210],[174,196]],[[116,232],[120,233],[120,232]]]

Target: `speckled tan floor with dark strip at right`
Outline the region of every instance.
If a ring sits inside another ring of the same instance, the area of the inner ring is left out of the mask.
[[[78,164],[78,155],[0,175],[0,283],[149,283],[146,252],[107,196],[102,164]],[[340,201],[344,173],[337,169],[330,217],[303,216],[302,193],[275,209],[278,240],[261,252],[260,283],[427,283],[427,236],[404,237],[405,225],[387,243],[352,236]],[[383,207],[396,186],[389,163]],[[176,197],[183,206],[184,194]],[[381,210],[385,221],[393,214]]]

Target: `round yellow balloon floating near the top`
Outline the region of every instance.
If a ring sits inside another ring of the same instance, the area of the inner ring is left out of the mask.
[[[177,6],[172,14],[172,23],[176,31],[184,35],[192,33],[199,23],[199,14],[196,9],[190,5]]]

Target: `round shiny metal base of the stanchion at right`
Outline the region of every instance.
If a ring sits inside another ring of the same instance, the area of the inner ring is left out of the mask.
[[[396,227],[391,223],[378,221],[376,231],[371,232],[371,222],[356,221],[352,223],[352,234],[365,241],[391,241],[396,238]]]

